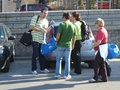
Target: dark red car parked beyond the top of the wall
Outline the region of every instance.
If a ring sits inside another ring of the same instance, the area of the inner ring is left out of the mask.
[[[51,7],[47,5],[41,5],[41,4],[23,4],[20,7],[20,12],[26,12],[26,11],[41,11],[41,9],[47,7],[48,10],[52,10]]]

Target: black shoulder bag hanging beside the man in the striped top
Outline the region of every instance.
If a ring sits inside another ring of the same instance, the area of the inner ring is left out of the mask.
[[[32,44],[32,35],[31,35],[31,31],[32,30],[29,30],[27,32],[24,32],[21,39],[20,39],[20,42],[25,45],[25,46],[30,46]]]

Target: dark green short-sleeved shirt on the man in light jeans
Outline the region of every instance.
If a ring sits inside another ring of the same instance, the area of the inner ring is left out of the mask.
[[[58,33],[60,33],[60,38],[58,41],[59,47],[72,48],[72,39],[76,35],[75,26],[67,21],[62,22],[58,27]]]

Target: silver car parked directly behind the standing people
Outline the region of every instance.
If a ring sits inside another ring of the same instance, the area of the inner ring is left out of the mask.
[[[53,31],[53,35],[49,35],[50,37],[56,36],[59,24],[60,24],[60,22],[57,22],[55,24],[55,26],[52,28],[51,31]],[[52,34],[52,33],[50,32],[50,34]],[[85,62],[85,63],[88,63],[89,67],[93,67],[92,66],[93,62],[92,61],[95,59],[95,51],[92,48],[93,43],[94,43],[94,36],[93,36],[92,31],[90,30],[89,39],[82,42],[82,47],[81,47],[81,61]],[[53,51],[52,53],[49,53],[46,56],[46,58],[47,58],[48,61],[50,61],[50,60],[53,61],[53,60],[55,60],[55,56],[56,56],[56,50]]]

